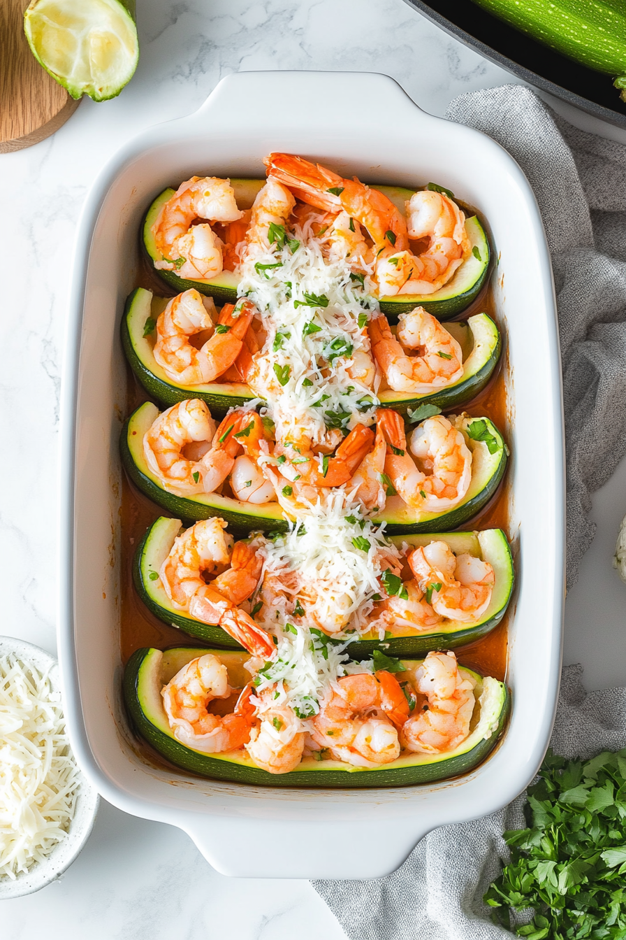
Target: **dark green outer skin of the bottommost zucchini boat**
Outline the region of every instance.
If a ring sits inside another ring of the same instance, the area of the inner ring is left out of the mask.
[[[190,659],[212,650],[190,649]],[[213,650],[218,656],[224,650]],[[500,685],[498,712],[495,727],[488,738],[483,738],[464,753],[451,758],[427,761],[424,755],[413,755],[414,762],[401,767],[387,769],[347,767],[337,769],[336,761],[328,761],[333,767],[324,766],[327,761],[307,761],[307,769],[291,771],[289,774],[268,774],[267,771],[254,767],[249,762],[236,762],[224,756],[202,754],[180,744],[163,722],[162,716],[152,708],[155,690],[146,688],[154,681],[155,654],[160,650],[136,650],[130,657],[124,670],[123,694],[130,721],[137,733],[151,744],[166,760],[176,764],[182,770],[192,774],[220,780],[233,780],[253,786],[266,787],[322,787],[333,789],[363,787],[404,787],[415,784],[433,783],[451,776],[467,774],[484,760],[494,746],[507,722],[511,710],[511,695],[506,685]],[[247,654],[245,654],[247,657]],[[471,670],[467,670],[471,672]],[[477,679],[481,677],[474,673]],[[160,690],[159,690],[160,691]],[[147,694],[146,694],[147,693]],[[149,707],[148,707],[149,705]],[[165,719],[166,722],[166,719]]]

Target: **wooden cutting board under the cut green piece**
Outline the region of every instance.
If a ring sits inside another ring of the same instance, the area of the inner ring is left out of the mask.
[[[80,102],[41,68],[23,35],[27,0],[0,0],[0,153],[32,147]]]

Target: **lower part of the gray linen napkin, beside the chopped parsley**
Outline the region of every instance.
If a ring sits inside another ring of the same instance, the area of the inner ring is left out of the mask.
[[[582,666],[563,669],[552,746],[589,758],[626,745],[626,689],[587,693]],[[501,940],[482,895],[500,872],[505,829],[524,826],[524,796],[473,823],[435,829],[402,868],[367,881],[315,881],[313,887],[350,940]]]

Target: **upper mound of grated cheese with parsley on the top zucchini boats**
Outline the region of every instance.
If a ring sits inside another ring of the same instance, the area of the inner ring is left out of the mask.
[[[292,251],[290,244],[298,247]],[[373,424],[379,403],[364,331],[377,303],[367,293],[367,278],[343,260],[324,258],[323,244],[310,221],[296,225],[282,248],[243,253],[239,284],[239,295],[257,306],[267,332],[252,386],[271,402],[278,437],[304,431],[313,445],[325,442],[328,429]]]

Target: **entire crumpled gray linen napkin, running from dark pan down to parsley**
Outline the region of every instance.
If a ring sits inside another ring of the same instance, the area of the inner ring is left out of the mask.
[[[447,117],[509,150],[542,211],[557,288],[572,587],[595,532],[589,494],[626,451],[626,148],[577,130],[522,86],[462,95]],[[567,757],[623,747],[626,690],[587,695],[581,674],[563,671],[552,746]],[[436,829],[387,878],[313,886],[350,940],[511,937],[485,919],[481,899],[507,857],[503,830],[524,825],[523,803]]]

